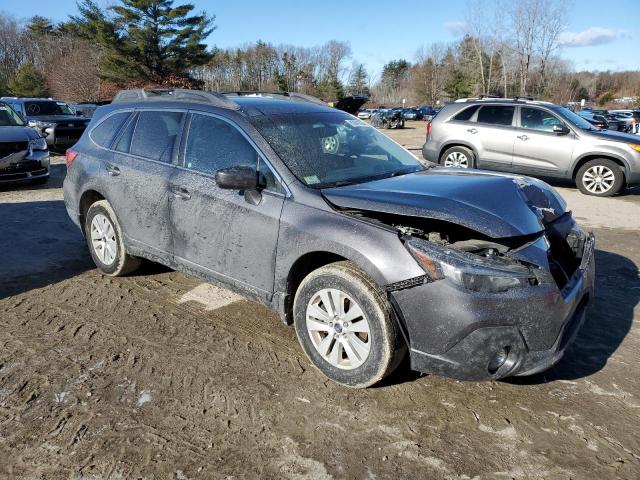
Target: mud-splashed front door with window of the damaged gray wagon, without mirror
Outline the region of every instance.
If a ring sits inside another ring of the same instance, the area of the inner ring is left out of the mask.
[[[269,299],[285,198],[280,180],[249,138],[222,117],[194,112],[183,143],[169,200],[176,261]],[[216,171],[237,165],[256,169],[259,194],[218,188]]]

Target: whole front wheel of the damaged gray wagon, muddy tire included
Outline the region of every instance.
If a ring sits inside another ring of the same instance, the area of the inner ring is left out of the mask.
[[[369,387],[402,360],[404,342],[384,291],[351,262],[310,273],[293,309],[304,352],[337,383]]]

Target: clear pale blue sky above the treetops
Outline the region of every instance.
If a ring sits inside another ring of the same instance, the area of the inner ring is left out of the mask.
[[[565,0],[558,0],[565,1]],[[109,5],[113,0],[98,0]],[[186,3],[177,0],[176,4]],[[421,45],[459,37],[466,0],[191,0],[215,14],[218,29],[211,45],[237,47],[264,40],[273,44],[314,46],[327,40],[351,45],[351,61],[378,75],[389,60],[412,60]],[[277,6],[273,6],[277,5]],[[76,12],[75,0],[0,0],[0,12],[18,19],[39,15],[63,20]],[[640,2],[578,0],[569,8],[569,26],[561,54],[576,69],[640,70]]]

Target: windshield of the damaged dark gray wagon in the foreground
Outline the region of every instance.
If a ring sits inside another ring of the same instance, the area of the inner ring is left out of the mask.
[[[298,180],[313,188],[425,169],[389,137],[344,113],[269,115],[252,123]]]

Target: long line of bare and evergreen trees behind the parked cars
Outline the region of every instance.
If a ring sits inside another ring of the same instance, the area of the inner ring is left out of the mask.
[[[640,72],[574,72],[560,57],[566,4],[522,0],[470,2],[459,39],[421,47],[412,59],[370,75],[348,43],[312,48],[258,41],[207,48],[215,17],[171,0],[78,3],[77,15],[25,25],[0,17],[0,94],[96,101],[119,88],[197,87],[217,91],[287,90],[326,100],[370,95],[399,105],[443,103],[491,94],[531,95],[557,103],[607,104],[640,95]]]

